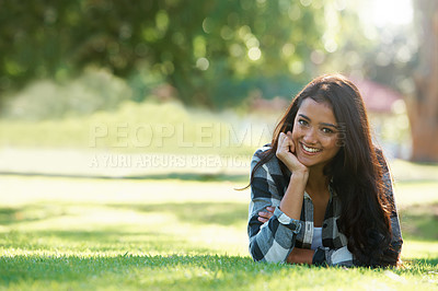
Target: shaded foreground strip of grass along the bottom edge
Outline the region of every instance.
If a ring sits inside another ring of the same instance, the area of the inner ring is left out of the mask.
[[[415,261],[420,266],[404,270],[266,265],[215,255],[21,256],[7,263],[16,265],[14,289],[430,290],[436,280],[436,261]]]

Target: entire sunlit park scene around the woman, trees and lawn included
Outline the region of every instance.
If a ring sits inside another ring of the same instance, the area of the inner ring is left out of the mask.
[[[1,289],[438,289],[434,0],[0,0]],[[401,269],[254,264],[253,152],[312,78],[358,85]]]

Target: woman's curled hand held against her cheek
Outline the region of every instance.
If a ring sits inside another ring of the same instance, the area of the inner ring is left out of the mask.
[[[298,161],[296,152],[296,144],[292,140],[292,132],[280,132],[278,137],[277,158],[289,168],[292,173],[307,173],[308,167]]]

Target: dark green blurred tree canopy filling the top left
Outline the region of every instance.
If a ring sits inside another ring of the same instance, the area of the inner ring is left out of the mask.
[[[316,74],[345,39],[331,19],[339,3],[0,0],[0,92],[96,66],[161,75],[186,104],[237,104],[251,88]]]

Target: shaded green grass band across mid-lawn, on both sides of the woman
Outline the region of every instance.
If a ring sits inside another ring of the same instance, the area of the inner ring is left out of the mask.
[[[93,205],[74,205],[90,208]],[[96,207],[106,207],[114,210],[132,210],[145,214],[170,214],[176,216],[177,220],[184,223],[195,225],[223,225],[245,224],[247,220],[247,205],[239,202],[169,202],[159,205],[102,205]],[[42,205],[33,203],[20,208],[0,208],[0,224],[11,225],[26,222],[62,217],[69,212],[71,205]],[[70,214],[71,216],[71,214]],[[403,236],[405,238],[415,238],[419,241],[438,241],[438,203],[413,206],[400,211],[400,220]]]

